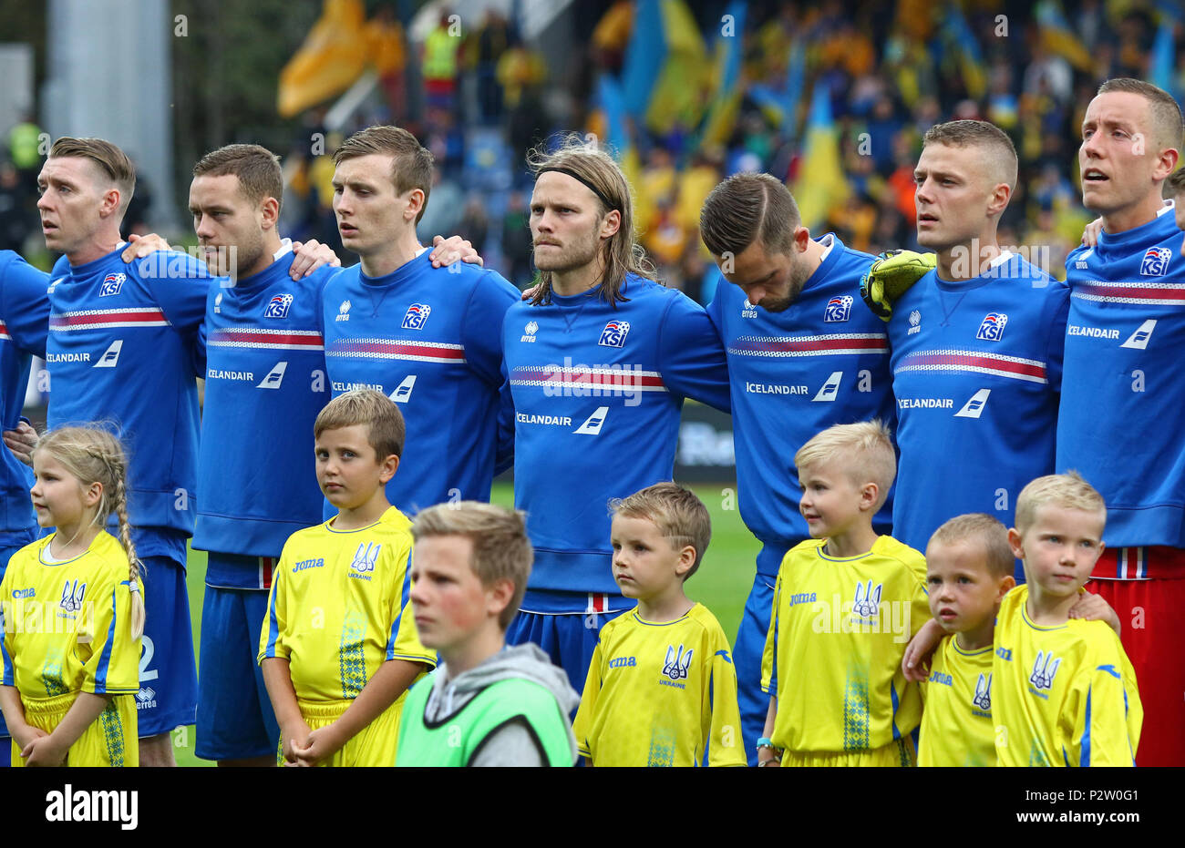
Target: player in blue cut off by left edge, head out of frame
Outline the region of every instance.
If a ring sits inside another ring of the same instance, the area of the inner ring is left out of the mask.
[[[50,301],[49,276],[11,250],[0,251],[0,428],[15,431],[21,422],[33,356],[45,356]],[[13,433],[15,436],[15,433]],[[6,439],[7,441],[7,439]],[[38,537],[37,515],[28,499],[33,475],[12,450],[0,450],[0,577],[8,558]],[[0,719],[0,766],[8,765],[12,746]]]

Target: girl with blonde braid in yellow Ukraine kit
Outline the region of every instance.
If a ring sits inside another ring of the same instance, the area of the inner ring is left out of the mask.
[[[143,586],[128,527],[128,461],[98,426],[33,450],[37,522],[56,532],[13,554],[0,583],[12,764],[139,765]],[[118,540],[105,529],[118,522]]]

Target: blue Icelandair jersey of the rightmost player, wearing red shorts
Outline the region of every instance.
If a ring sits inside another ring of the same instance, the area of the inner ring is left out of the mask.
[[[1185,547],[1181,238],[1170,203],[1154,220],[1103,232],[1065,261],[1057,468],[1076,469],[1107,501],[1108,547]]]

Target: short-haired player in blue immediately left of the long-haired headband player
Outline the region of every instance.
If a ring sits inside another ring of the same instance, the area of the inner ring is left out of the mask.
[[[402,512],[488,501],[495,467],[508,464],[498,456],[500,330],[518,289],[494,271],[433,265],[416,238],[433,155],[410,133],[370,127],[334,161],[338,229],[359,263],[325,289],[332,394],[376,388],[399,404],[406,450],[387,499]]]

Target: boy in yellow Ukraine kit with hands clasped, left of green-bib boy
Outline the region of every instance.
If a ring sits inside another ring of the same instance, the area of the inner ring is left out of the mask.
[[[260,637],[286,765],[393,765],[404,694],[436,663],[406,609],[411,522],[386,500],[404,432],[372,390],[316,417],[318,482],[339,512],[289,537]]]

